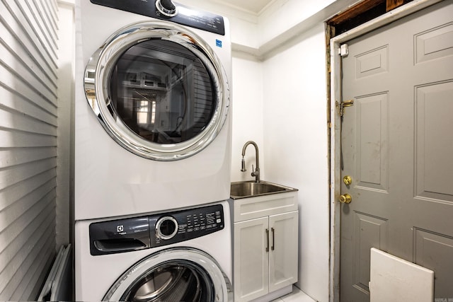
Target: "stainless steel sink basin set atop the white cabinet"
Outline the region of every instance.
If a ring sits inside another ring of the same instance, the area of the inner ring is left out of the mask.
[[[283,185],[277,185],[272,182],[243,181],[231,182],[230,196],[233,199],[239,199],[292,191],[297,191],[297,189],[294,189],[292,187],[285,187]]]

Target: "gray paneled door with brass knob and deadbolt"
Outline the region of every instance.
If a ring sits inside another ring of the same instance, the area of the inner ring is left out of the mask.
[[[340,301],[369,301],[369,250],[435,272],[453,298],[453,1],[348,43]]]

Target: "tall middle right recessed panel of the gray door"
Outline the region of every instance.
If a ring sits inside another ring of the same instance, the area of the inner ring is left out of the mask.
[[[438,135],[453,129],[452,95],[453,81],[415,88],[417,197],[453,202],[453,137]]]

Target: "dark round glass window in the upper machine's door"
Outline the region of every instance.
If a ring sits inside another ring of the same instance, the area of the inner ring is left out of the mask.
[[[147,40],[118,59],[110,95],[116,114],[137,135],[176,144],[197,136],[212,120],[213,86],[193,52],[174,42]]]

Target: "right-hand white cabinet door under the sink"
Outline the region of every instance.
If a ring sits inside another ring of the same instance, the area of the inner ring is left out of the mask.
[[[269,216],[269,291],[297,282],[299,211]]]

